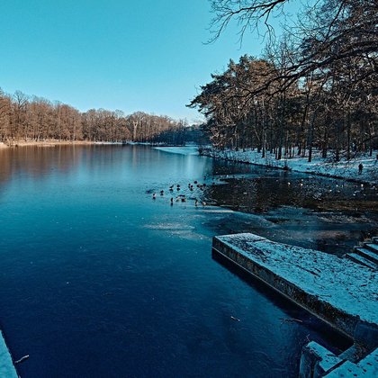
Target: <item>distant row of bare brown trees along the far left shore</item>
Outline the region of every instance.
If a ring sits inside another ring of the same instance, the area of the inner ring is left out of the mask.
[[[195,135],[194,135],[195,136]],[[183,145],[193,140],[187,121],[168,116],[91,109],[79,112],[66,103],[0,90],[0,141],[17,140],[132,140]],[[193,140],[197,141],[197,140]]]

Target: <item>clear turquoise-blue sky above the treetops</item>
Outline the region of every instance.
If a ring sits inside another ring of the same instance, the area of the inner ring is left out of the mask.
[[[0,12],[0,87],[91,108],[194,121],[185,108],[229,58],[263,41],[236,27],[213,44],[207,0],[12,0]]]

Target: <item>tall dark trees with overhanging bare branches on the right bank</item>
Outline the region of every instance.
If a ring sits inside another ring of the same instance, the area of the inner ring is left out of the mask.
[[[203,130],[217,148],[310,161],[314,148],[336,160],[372,155],[378,148],[378,2],[312,2],[275,39],[269,20],[283,14],[287,2],[211,2],[214,40],[235,18],[241,38],[265,23],[269,42],[259,58],[229,60],[188,106],[205,115]]]

